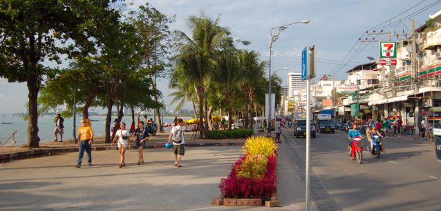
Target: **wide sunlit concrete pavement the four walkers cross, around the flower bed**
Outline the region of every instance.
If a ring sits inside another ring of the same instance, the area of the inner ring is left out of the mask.
[[[304,187],[284,144],[279,145],[279,208],[211,205],[218,183],[238,159],[240,146],[186,148],[182,168],[167,149],[136,150],[118,168],[116,150],[93,151],[93,166],[74,168],[77,153],[0,164],[0,210],[303,210]],[[86,157],[86,156],[85,156]],[[84,162],[86,158],[84,158]]]

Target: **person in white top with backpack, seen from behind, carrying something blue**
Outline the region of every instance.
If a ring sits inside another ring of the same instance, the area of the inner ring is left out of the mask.
[[[173,141],[173,152],[175,154],[175,163],[174,165],[178,168],[182,167],[180,165],[181,157],[185,154],[185,140],[184,140],[184,131],[187,130],[187,123],[182,119],[178,119],[178,124],[171,128],[171,132],[169,134],[169,143]]]

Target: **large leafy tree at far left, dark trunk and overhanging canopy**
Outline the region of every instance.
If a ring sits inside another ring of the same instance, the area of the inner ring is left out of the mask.
[[[97,20],[114,17],[110,1],[0,1],[0,77],[28,86],[28,147],[38,148],[37,97],[42,81],[55,70],[44,61],[61,63],[60,55],[93,51]],[[91,12],[93,11],[93,12]]]

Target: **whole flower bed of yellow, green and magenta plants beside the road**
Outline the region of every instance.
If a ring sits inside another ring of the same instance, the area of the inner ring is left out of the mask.
[[[276,144],[271,138],[250,137],[244,154],[218,188],[225,199],[269,201],[276,191]]]

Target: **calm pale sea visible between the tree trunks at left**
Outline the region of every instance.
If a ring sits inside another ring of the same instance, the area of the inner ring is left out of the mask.
[[[40,143],[50,142],[55,140],[54,129],[55,129],[55,118],[56,116],[42,116],[38,117],[38,136],[40,137]],[[75,125],[76,130],[80,125],[82,116],[76,117]],[[117,117],[113,116],[111,125],[113,120]],[[136,118],[136,117],[135,117]],[[153,118],[153,117],[148,117]],[[184,120],[192,119],[191,117],[178,117]],[[106,116],[90,116],[89,119],[92,120],[92,128],[95,133],[95,137],[102,137],[105,133],[105,122]],[[173,123],[175,117],[163,117],[164,123]],[[122,121],[124,121],[128,126],[131,125],[132,119],[131,115],[122,117]],[[141,118],[142,121],[142,118]],[[171,128],[165,128],[165,130],[169,131]],[[28,142],[28,121],[25,121],[22,117],[14,117],[12,114],[2,114],[0,116],[0,141],[5,142],[10,135],[17,130],[17,133],[14,135],[14,139],[17,142],[16,145],[26,144]],[[76,131],[78,132],[78,131]],[[73,118],[64,118],[64,134],[63,140],[72,139],[73,134]],[[58,135],[59,140],[59,135]],[[6,143],[6,145],[10,145],[10,141]]]

